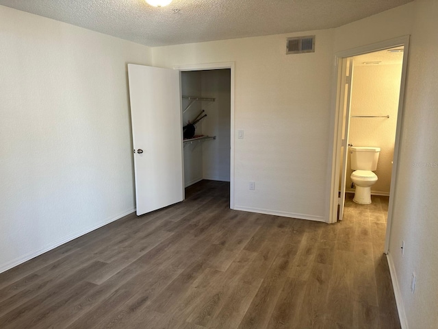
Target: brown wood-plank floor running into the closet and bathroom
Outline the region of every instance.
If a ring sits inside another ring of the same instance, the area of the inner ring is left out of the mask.
[[[400,328],[384,197],[331,225],[186,197],[1,273],[0,328]]]

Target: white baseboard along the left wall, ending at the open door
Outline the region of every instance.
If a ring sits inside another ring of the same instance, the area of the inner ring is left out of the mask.
[[[69,234],[68,236],[64,236],[62,239],[58,239],[57,241],[54,241],[53,243],[49,243],[48,245],[45,245],[44,247],[34,250],[33,252],[29,252],[23,256],[20,256],[18,258],[15,258],[13,260],[10,260],[8,263],[1,264],[0,265],[0,273],[4,271],[8,271],[8,269],[12,269],[12,267],[16,267],[17,265],[20,265],[22,263],[27,262],[27,260],[31,260],[32,258],[35,258],[36,256],[40,256],[44,254],[44,252],[49,252],[51,249],[55,249],[56,247],[59,247],[60,245],[64,245],[64,243],[67,243],[68,241],[72,241],[76,238],[79,238],[79,236],[83,236],[87,233],[90,233],[98,228],[101,228],[102,226],[105,226],[109,223],[112,223],[113,221],[116,221],[122,217],[125,217],[126,215],[131,214],[132,212],[136,211],[136,208],[126,210],[119,215],[116,215],[115,217],[111,217],[109,219],[105,219],[101,223],[92,226],[91,228],[87,228],[86,230],[81,230],[78,232],[75,232],[73,234]]]

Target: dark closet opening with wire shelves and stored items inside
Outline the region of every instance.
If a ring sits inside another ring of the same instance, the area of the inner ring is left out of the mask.
[[[211,193],[232,208],[231,68],[181,71],[186,195]]]

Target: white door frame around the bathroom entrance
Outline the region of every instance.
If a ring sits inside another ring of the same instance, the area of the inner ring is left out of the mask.
[[[402,77],[400,81],[400,96],[398,99],[398,114],[397,114],[397,127],[396,127],[396,140],[394,143],[394,157],[393,157],[393,167],[391,174],[391,186],[389,193],[389,205],[388,205],[388,217],[387,217],[387,228],[385,236],[385,254],[388,253],[389,249],[389,239],[391,232],[391,223],[394,210],[394,201],[396,199],[396,189],[398,178],[398,155],[400,152],[400,135],[402,134],[402,118],[404,110],[404,89],[406,84],[407,75],[407,63],[409,54],[409,35],[401,36],[399,38],[394,38],[390,40],[385,40],[382,42],[377,42],[371,45],[365,45],[363,47],[357,47],[354,49],[348,49],[345,51],[340,51],[335,54],[335,76],[333,82],[333,100],[332,100],[332,115],[331,115],[331,132],[333,132],[333,138],[331,140],[331,162],[330,166],[330,191],[329,191],[329,206],[326,207],[326,218],[328,218],[329,223],[335,223],[337,221],[337,195],[339,189],[339,150],[342,143],[341,132],[342,132],[342,115],[340,114],[340,106],[342,99],[340,99],[340,86],[342,80],[342,60],[344,58],[349,58],[353,56],[362,55],[364,53],[372,53],[374,51],[379,51],[383,49],[389,49],[393,47],[404,46],[403,53],[403,64],[402,64]],[[339,131],[340,129],[340,131]]]

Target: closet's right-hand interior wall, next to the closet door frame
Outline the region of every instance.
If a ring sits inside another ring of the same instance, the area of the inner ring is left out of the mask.
[[[202,96],[215,101],[203,101],[207,117],[203,119],[203,134],[216,136],[203,143],[203,178],[230,181],[231,71],[202,71]]]

